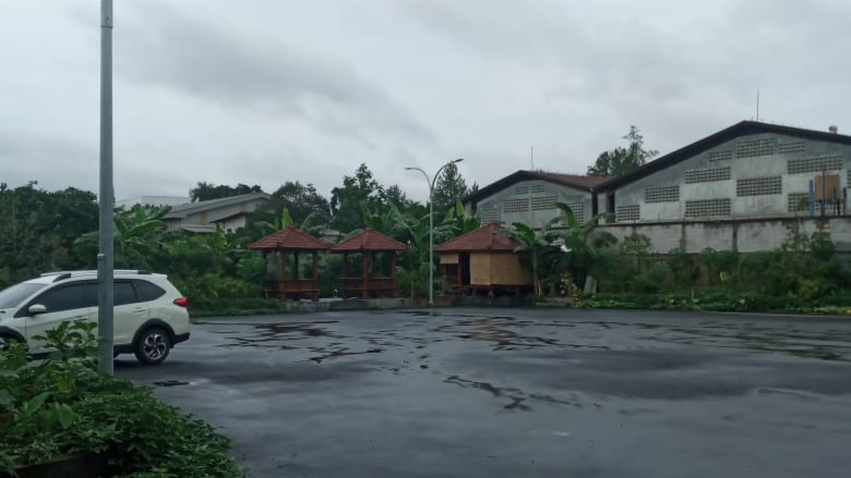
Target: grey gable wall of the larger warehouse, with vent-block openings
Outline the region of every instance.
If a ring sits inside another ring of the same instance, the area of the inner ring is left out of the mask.
[[[803,160],[812,160],[818,172],[790,172]],[[840,177],[840,187],[848,185],[851,169],[851,146],[824,143],[774,133],[748,135],[722,143],[700,155],[695,155],[677,165],[625,184],[614,191],[614,211],[608,211],[606,193],[597,196],[598,211],[617,213],[627,211],[623,206],[638,206],[637,222],[705,220],[740,217],[794,217],[789,211],[789,194],[806,194],[809,180],[821,174],[820,165],[828,165],[827,172]],[[720,181],[687,182],[685,176],[717,168],[730,168],[729,179]],[[780,177],[780,190],[770,194],[739,194],[737,180]],[[648,188],[678,187],[679,197],[664,202],[648,202]],[[687,217],[689,200],[729,199],[730,211],[723,215]],[[627,220],[625,215],[619,222]]]

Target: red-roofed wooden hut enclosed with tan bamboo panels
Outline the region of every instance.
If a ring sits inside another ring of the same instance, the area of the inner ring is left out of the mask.
[[[500,224],[492,222],[435,246],[448,289],[471,293],[484,290],[494,295],[519,294],[532,286],[532,274],[514,252],[520,242],[500,233],[501,229]]]

